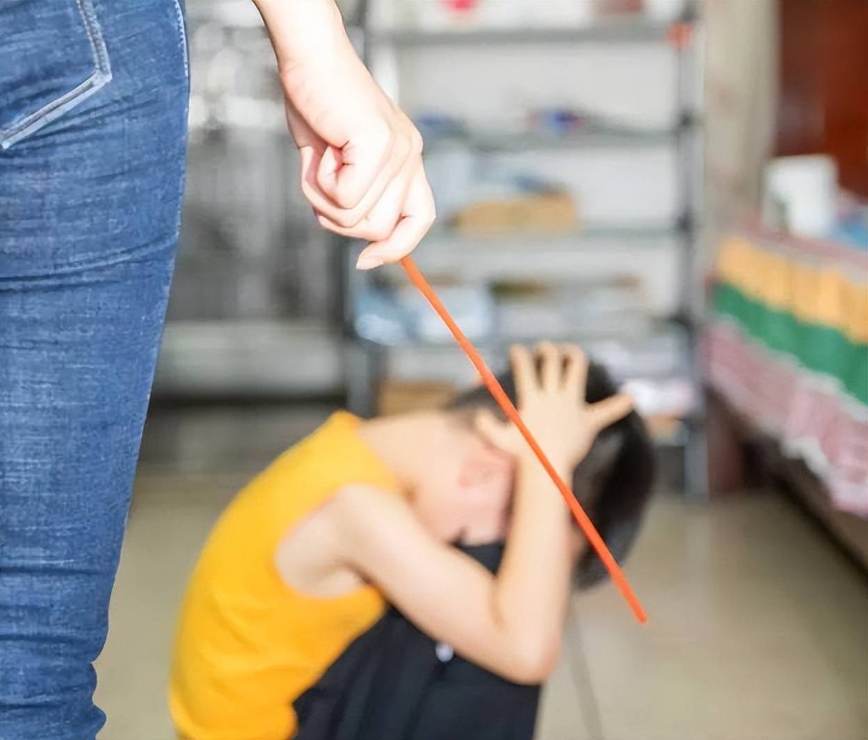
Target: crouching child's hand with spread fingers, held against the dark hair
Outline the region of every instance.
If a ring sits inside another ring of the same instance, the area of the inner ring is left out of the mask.
[[[510,348],[516,380],[518,410],[549,459],[575,468],[594,443],[596,435],[633,409],[626,394],[599,403],[585,403],[588,358],[575,344],[556,347],[543,342],[534,353],[520,344]],[[527,442],[510,422],[491,411],[480,411],[477,430],[489,442],[510,455],[533,457]]]

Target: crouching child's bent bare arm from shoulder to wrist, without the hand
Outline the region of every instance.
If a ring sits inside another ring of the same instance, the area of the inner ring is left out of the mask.
[[[544,484],[533,468],[521,475],[520,521],[497,577],[434,540],[405,501],[367,487],[348,487],[333,503],[340,557],[431,637],[505,678],[539,684],[560,646],[569,574],[569,524]]]

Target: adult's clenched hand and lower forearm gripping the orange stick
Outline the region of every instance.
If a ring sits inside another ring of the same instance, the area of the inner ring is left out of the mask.
[[[358,59],[332,0],[254,2],[278,59],[302,191],[319,223],[370,242],[360,269],[398,261],[435,216],[422,137]]]

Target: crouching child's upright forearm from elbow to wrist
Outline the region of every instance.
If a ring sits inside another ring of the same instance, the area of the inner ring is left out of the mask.
[[[554,462],[569,480],[569,465]],[[555,665],[569,595],[571,524],[536,458],[523,458],[506,551],[495,581],[495,608],[525,662],[543,675]]]

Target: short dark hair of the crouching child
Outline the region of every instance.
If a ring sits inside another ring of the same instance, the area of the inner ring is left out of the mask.
[[[516,403],[512,372],[499,375],[497,380]],[[607,370],[599,363],[590,363],[585,400],[596,403],[616,392]],[[492,409],[503,418],[494,399],[482,386],[458,396],[449,404],[449,409]],[[588,455],[575,468],[573,491],[619,563],[627,557],[639,533],[654,483],[654,467],[654,447],[645,422],[632,411],[597,435]],[[575,582],[586,588],[604,579],[606,574],[602,561],[588,548],[576,568]]]

